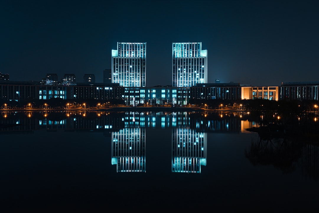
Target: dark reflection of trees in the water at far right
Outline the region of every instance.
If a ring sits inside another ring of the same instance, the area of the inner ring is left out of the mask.
[[[300,165],[302,173],[319,180],[319,147],[300,138],[268,137],[259,133],[245,156],[253,165],[273,165],[283,173],[292,173]]]

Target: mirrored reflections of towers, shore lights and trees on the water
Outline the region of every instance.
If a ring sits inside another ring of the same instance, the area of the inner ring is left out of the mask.
[[[145,172],[147,129],[171,128],[171,171],[201,173],[201,166],[207,165],[208,133],[249,133],[246,129],[288,122],[298,125],[299,130],[304,128],[308,134],[317,134],[317,127],[306,126],[307,120],[316,123],[316,116],[300,114],[288,120],[278,113],[252,115],[248,112],[2,111],[0,133],[103,132],[111,137],[111,164],[116,165],[117,172]],[[285,173],[301,165],[304,174],[318,180],[316,143],[283,137],[282,133],[281,129],[272,135],[259,133],[259,140],[253,141],[245,151],[247,159],[253,165],[273,165]]]

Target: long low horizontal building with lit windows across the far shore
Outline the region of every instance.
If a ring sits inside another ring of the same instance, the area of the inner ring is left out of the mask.
[[[0,99],[96,99],[123,100],[137,105],[186,105],[190,100],[318,100],[319,81],[283,82],[281,86],[250,86],[239,83],[197,83],[192,87],[122,87],[118,83],[77,83],[73,86],[40,85],[36,81],[0,81]]]

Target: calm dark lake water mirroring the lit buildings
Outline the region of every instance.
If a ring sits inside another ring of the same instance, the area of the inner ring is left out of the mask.
[[[8,113],[2,208],[318,210],[318,147],[261,140],[247,116]]]

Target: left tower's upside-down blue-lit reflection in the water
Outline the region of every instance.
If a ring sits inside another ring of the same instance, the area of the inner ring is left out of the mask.
[[[113,132],[112,165],[117,172],[146,172],[145,128],[124,128]]]

